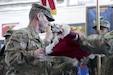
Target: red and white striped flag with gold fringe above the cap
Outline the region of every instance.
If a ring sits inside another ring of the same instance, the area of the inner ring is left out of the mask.
[[[50,8],[52,15],[56,15],[56,0],[40,0],[40,3]]]

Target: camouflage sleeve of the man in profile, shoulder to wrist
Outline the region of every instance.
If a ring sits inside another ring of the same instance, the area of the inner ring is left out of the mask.
[[[27,50],[28,35],[21,32],[13,34],[5,48],[5,62],[7,65],[21,64],[32,60],[32,51]]]

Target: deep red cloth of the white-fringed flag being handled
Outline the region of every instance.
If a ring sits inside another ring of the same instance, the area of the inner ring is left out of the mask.
[[[53,48],[53,52],[49,55],[67,56],[80,60],[83,57],[88,57],[90,53],[83,51],[76,41],[64,37],[63,39],[59,40],[59,43]]]

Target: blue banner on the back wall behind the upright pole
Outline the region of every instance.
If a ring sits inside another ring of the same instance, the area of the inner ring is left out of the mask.
[[[112,13],[113,8],[108,7],[107,9],[105,9],[105,11],[100,12],[100,16],[102,16],[105,20],[108,20],[110,22],[110,30],[113,29],[113,18],[112,18]],[[87,34],[93,34],[94,30],[93,30],[93,26],[94,23],[93,21],[96,19],[96,10],[93,8],[88,8],[87,10]]]

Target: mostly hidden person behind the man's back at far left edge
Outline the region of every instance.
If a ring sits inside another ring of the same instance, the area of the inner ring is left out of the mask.
[[[4,35],[5,37],[4,46],[0,50],[0,75],[5,75],[5,72],[6,72],[6,66],[5,66],[5,61],[4,61],[5,59],[4,51],[5,51],[5,45],[8,42],[12,33],[13,33],[12,30],[8,30]]]

